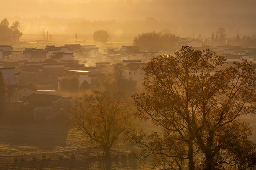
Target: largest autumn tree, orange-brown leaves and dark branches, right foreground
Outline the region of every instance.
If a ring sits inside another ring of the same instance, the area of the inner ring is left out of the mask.
[[[153,167],[162,170],[255,166],[251,129],[238,118],[255,113],[256,65],[241,60],[222,69],[225,62],[215,52],[188,46],[151,59],[143,68],[145,90],[134,103],[136,116],[158,128],[128,132],[130,142],[142,147],[137,158],[151,156]]]

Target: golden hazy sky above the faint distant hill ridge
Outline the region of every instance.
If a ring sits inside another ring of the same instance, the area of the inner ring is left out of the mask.
[[[0,0],[0,4],[0,17],[227,21],[256,17],[256,0]]]

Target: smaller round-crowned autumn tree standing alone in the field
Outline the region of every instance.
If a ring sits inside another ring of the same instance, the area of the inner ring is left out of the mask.
[[[119,135],[130,128],[132,105],[123,93],[93,91],[77,99],[70,110],[71,123],[103,148],[103,158],[110,158],[110,148]]]

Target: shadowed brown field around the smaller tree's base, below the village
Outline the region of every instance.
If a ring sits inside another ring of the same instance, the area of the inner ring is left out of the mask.
[[[63,124],[0,125],[0,136],[0,170],[137,169],[132,155],[139,148],[122,136],[111,150],[115,158],[108,161],[100,159],[99,145]]]

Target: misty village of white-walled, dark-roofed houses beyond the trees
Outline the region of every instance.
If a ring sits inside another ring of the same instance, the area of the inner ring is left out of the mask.
[[[176,45],[189,45],[197,50],[209,48],[224,55],[228,63],[241,58],[253,61],[256,57],[256,48],[205,47],[202,44],[198,40],[180,38]],[[163,51],[140,49],[137,46],[122,46],[120,50],[107,48],[99,53],[96,45],[47,45],[44,49],[25,48],[22,51],[14,51],[12,46],[2,45],[0,71],[11,89],[7,99],[9,102],[23,101],[32,104],[35,120],[53,119],[65,112],[65,107],[72,102],[70,97],[62,97],[56,93],[61,88],[60,82],[63,78],[76,76],[79,85],[86,81],[93,86],[99,83],[99,77],[120,70],[124,79],[132,80],[140,86],[143,82],[141,68],[152,57],[161,53]],[[36,84],[37,89],[27,86],[31,83]],[[38,102],[39,99],[42,102]]]

